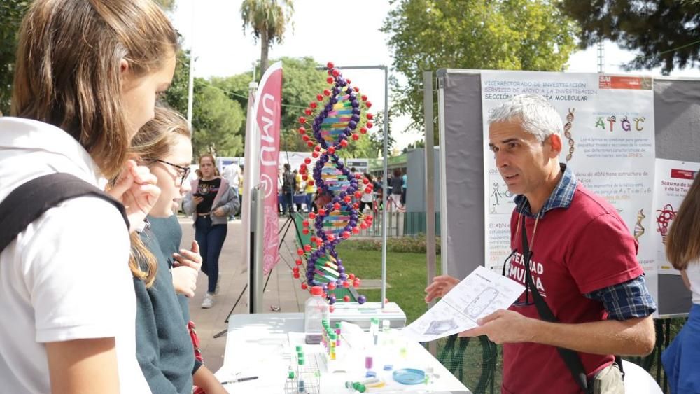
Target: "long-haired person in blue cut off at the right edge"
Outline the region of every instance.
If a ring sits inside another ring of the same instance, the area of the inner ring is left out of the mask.
[[[680,270],[692,293],[692,307],[682,330],[661,354],[672,394],[700,393],[700,178],[688,194],[666,235],[666,258]]]

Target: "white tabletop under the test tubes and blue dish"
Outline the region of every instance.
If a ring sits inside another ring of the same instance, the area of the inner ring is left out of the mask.
[[[300,343],[301,335],[290,332],[304,331],[304,314],[237,314],[229,320],[224,363],[216,376],[221,381],[242,377],[258,377],[249,381],[224,386],[230,393],[283,393],[290,366],[290,352]],[[316,345],[319,346],[319,345]],[[309,345],[304,346],[309,349]],[[320,349],[320,346],[319,346]],[[383,388],[372,388],[369,393],[471,393],[461,381],[445,369],[421,344],[409,343],[407,358],[393,363],[395,368],[432,368],[433,379],[428,384],[402,385],[393,381],[391,371],[374,367],[377,377],[386,382]],[[321,371],[321,393],[348,393],[346,381],[363,381],[363,375]]]

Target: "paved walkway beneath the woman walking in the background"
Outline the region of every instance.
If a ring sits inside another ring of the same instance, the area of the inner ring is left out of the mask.
[[[181,217],[180,223],[183,230],[182,245],[188,246],[195,239],[192,220]],[[285,220],[281,219],[280,228],[284,223]],[[200,276],[197,278],[195,297],[190,300],[190,314],[197,325],[197,334],[200,337],[204,361],[214,372],[223,364],[223,353],[226,346],[225,335],[216,339],[214,335],[228,327],[224,323],[226,316],[248,282],[248,265],[241,258],[241,245],[243,243],[241,228],[241,220],[228,222],[228,235],[219,260],[219,291],[215,297],[214,307],[211,309],[200,307],[204,293],[207,293],[207,275],[203,272],[200,272]],[[270,307],[274,306],[279,307],[280,312],[303,311],[304,302],[308,297],[307,291],[301,290],[299,279],[293,279],[292,270],[286,264],[288,262],[288,264],[294,265],[295,257],[292,253],[296,249],[293,247],[293,231],[294,227],[290,227],[285,238],[288,247],[282,246],[280,262],[272,270],[272,276],[267,283],[265,295],[263,295],[263,304],[266,310],[271,310]],[[246,295],[241,297],[233,313],[248,313]]]

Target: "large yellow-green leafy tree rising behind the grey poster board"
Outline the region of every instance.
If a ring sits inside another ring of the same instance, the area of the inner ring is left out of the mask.
[[[423,128],[423,71],[442,68],[561,71],[575,25],[556,0],[402,0],[381,31],[407,78],[395,108]],[[437,133],[436,133],[437,136]]]

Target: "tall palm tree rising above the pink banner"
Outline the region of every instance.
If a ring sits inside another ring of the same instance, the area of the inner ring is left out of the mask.
[[[243,31],[253,29],[255,39],[260,38],[260,75],[265,73],[269,60],[267,52],[273,41],[282,42],[284,29],[289,22],[294,7],[292,0],[244,0],[241,4]]]

